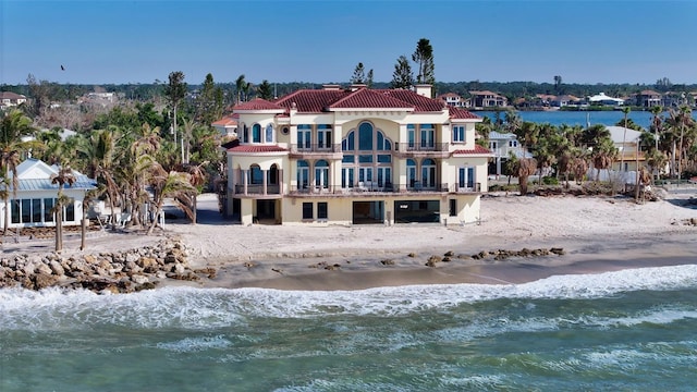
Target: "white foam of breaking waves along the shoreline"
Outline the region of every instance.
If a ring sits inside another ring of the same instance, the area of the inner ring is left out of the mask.
[[[524,284],[448,284],[362,291],[163,287],[134,294],[88,291],[0,290],[0,329],[136,328],[210,329],[244,327],[249,318],[311,318],[331,315],[399,316],[501,298],[592,299],[622,292],[697,286],[697,266],[628,269],[598,274],[557,275]],[[682,314],[681,314],[682,315]],[[598,320],[598,322],[646,322]],[[669,319],[682,317],[660,314]],[[547,322],[547,321],[546,321]],[[528,326],[529,327],[529,326]]]

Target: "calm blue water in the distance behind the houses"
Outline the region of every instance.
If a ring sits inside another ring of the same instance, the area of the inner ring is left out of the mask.
[[[492,121],[496,119],[496,113],[492,111],[476,111],[475,114],[479,117],[488,117]],[[586,126],[588,122],[590,125],[615,125],[617,122],[624,120],[624,113],[620,110],[610,111],[521,111],[517,112],[523,121],[529,121],[534,123],[550,123],[552,125],[582,125]],[[505,112],[501,112],[501,120],[504,120]],[[696,117],[697,112],[693,112],[693,117]],[[669,118],[668,113],[663,113],[664,118]],[[636,124],[641,125],[645,130],[648,130],[651,124],[653,114],[649,111],[632,111],[627,115]]]

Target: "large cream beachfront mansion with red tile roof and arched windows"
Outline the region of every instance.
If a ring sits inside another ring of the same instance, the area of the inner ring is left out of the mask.
[[[233,107],[223,213],[242,224],[464,224],[479,220],[493,155],[481,118],[431,86],[302,89]]]

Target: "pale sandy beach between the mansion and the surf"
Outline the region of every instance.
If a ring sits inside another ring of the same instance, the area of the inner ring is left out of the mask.
[[[183,217],[163,230],[90,233],[87,248],[65,238],[63,255],[114,252],[181,237],[193,268],[215,279],[160,285],[359,290],[407,284],[510,284],[557,274],[697,262],[697,188],[659,201],[625,197],[487,194],[479,224],[242,226],[218,213],[213,194],[198,199],[198,223]],[[172,210],[173,211],[173,210]],[[5,241],[3,253],[51,252],[52,240]],[[563,255],[473,258],[481,252],[562,248]],[[445,258],[445,255],[450,255]],[[431,257],[441,261],[426,266]]]

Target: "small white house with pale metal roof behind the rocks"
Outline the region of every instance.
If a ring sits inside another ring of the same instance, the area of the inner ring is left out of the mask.
[[[49,167],[44,161],[29,158],[17,166],[19,187],[16,198],[10,180],[8,191],[10,209],[10,228],[54,226],[51,209],[58,198],[58,184],[51,184],[51,175],[58,174],[58,167]],[[71,201],[63,207],[63,224],[77,225],[83,219],[83,201],[87,191],[96,188],[96,182],[85,174],[73,171],[76,182],[65,184],[63,194]],[[12,173],[10,173],[12,177]],[[0,185],[4,191],[4,185]],[[0,200],[0,228],[4,226],[5,203]]]

